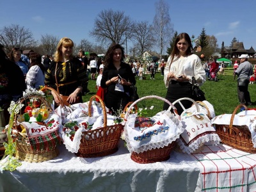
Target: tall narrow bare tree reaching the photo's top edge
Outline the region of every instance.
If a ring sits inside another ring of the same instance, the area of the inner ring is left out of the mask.
[[[164,47],[170,42],[173,34],[173,25],[169,15],[169,5],[164,0],[155,3],[156,15],[153,21],[153,29],[156,38],[156,44],[160,47],[162,58]]]

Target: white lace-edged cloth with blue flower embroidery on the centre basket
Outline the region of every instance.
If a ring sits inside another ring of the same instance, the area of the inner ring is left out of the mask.
[[[128,150],[140,153],[152,148],[163,148],[179,138],[184,129],[176,116],[169,116],[168,112],[157,113],[152,117],[154,125],[143,129],[134,127],[137,113],[129,115],[124,127]]]

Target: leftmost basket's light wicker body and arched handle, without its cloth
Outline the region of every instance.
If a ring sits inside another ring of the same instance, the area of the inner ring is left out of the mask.
[[[41,104],[43,103],[45,108],[48,109],[49,113],[52,112],[51,104],[44,98],[40,97],[38,94],[29,94],[26,97],[22,97],[17,103],[24,104],[28,99],[38,99],[40,100]],[[20,110],[21,113],[21,110]],[[17,114],[15,114],[15,122],[13,125],[13,129],[17,129],[17,134],[15,135],[15,142],[16,142],[16,154],[15,157],[21,161],[28,161],[29,163],[39,163],[42,161],[48,161],[54,157],[59,155],[59,151],[57,145],[60,144],[60,138],[58,141],[52,140],[44,150],[38,151],[33,149],[28,142],[27,134],[20,132],[20,126],[17,122]]]

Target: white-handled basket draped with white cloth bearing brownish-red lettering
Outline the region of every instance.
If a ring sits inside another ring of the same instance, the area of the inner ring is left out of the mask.
[[[193,102],[191,108],[185,109],[181,100],[190,100]],[[195,154],[201,152],[204,145],[218,145],[220,144],[220,137],[216,133],[215,128],[211,124],[209,119],[209,109],[202,110],[202,106],[198,102],[188,97],[184,97],[175,100],[173,104],[179,103],[184,111],[180,115],[182,127],[185,129],[180,138],[177,140],[177,150],[178,152],[184,152],[187,154]]]

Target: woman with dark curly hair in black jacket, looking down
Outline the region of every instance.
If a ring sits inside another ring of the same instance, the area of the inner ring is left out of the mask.
[[[113,113],[119,109],[123,110],[131,101],[131,85],[136,84],[132,68],[124,63],[124,58],[124,48],[119,44],[112,44],[105,54],[105,67],[100,86],[107,88],[104,101]]]

